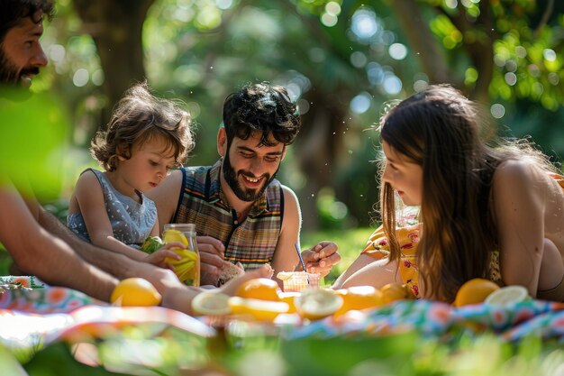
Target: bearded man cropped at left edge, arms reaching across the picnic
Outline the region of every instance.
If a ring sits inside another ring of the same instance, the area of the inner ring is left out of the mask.
[[[52,0],[0,2],[1,85],[30,87],[33,77],[47,65],[39,40],[43,18],[50,19],[53,13]],[[118,280],[142,277],[159,289],[163,306],[191,312],[190,302],[198,291],[182,285],[172,271],[81,241],[33,197],[24,198],[5,171],[0,171],[0,178],[0,242],[21,271],[104,301],[109,300]],[[268,276],[263,268],[239,281]],[[236,286],[232,284],[225,292],[230,289]]]

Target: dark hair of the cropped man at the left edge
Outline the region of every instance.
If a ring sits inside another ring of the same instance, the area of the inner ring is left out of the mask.
[[[10,29],[22,23],[23,19],[29,17],[34,23],[40,23],[43,19],[35,16],[37,11],[42,11],[43,17],[51,20],[55,14],[54,0],[1,0],[0,44]]]

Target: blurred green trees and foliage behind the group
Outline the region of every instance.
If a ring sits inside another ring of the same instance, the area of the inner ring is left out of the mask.
[[[191,165],[218,158],[225,96],[283,85],[304,126],[278,178],[296,190],[305,231],[339,231],[378,220],[371,126],[429,83],[458,87],[496,131],[531,135],[559,161],[563,43],[564,3],[553,0],[59,0],[42,38],[50,65],[33,88],[68,106],[64,202],[132,83],[186,104]]]

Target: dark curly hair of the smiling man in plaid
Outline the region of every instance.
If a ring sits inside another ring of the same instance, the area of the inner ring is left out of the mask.
[[[230,144],[235,136],[247,140],[252,133],[260,132],[261,145],[273,146],[270,134],[277,142],[289,145],[301,124],[286,88],[266,82],[242,87],[223,104],[223,126]]]

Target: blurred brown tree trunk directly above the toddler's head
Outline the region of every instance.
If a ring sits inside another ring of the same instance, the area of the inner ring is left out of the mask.
[[[104,120],[134,82],[145,79],[142,29],[154,0],[73,0],[85,32],[96,42],[107,99]]]

